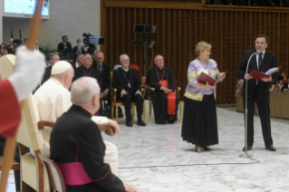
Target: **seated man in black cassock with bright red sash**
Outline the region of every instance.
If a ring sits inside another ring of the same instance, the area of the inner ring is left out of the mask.
[[[156,55],[154,62],[156,66],[149,70],[146,83],[155,88],[151,95],[155,120],[158,124],[174,123],[178,111],[177,80],[161,55]]]

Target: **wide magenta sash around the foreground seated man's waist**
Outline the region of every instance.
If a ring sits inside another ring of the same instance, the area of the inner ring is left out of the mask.
[[[87,175],[82,162],[55,163],[63,173],[66,186],[80,186],[93,182],[92,178]]]

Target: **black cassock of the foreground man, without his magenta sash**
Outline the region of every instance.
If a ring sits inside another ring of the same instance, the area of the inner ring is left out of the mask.
[[[125,192],[120,178],[104,163],[105,144],[92,114],[79,106],[72,107],[56,120],[50,138],[51,158],[57,163],[82,162],[92,183],[66,186],[68,192]],[[65,178],[64,178],[65,180]]]

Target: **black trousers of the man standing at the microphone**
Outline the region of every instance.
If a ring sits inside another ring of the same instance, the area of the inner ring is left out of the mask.
[[[256,91],[255,91],[256,92]],[[254,143],[254,114],[255,114],[255,103],[259,111],[259,116],[261,120],[263,139],[265,146],[273,145],[273,139],[271,137],[271,121],[270,121],[270,99],[260,100],[256,98],[256,95],[252,98],[248,98],[247,110],[247,145],[253,146]],[[243,97],[244,106],[244,120],[246,118],[246,97]]]

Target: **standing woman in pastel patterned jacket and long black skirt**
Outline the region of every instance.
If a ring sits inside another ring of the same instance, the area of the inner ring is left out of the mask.
[[[201,72],[221,82],[226,77],[218,72],[217,63],[209,59],[211,45],[199,42],[196,45],[197,58],[188,65],[188,85],[185,92],[184,119],[181,137],[195,144],[195,151],[210,150],[207,146],[218,143],[216,86],[197,82]]]

